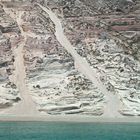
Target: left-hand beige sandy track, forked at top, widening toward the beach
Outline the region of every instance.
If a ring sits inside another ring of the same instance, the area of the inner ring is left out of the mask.
[[[4,7],[4,6],[3,6]],[[15,83],[19,94],[21,96],[21,101],[13,106],[12,108],[5,110],[4,114],[12,115],[35,115],[38,113],[35,103],[33,102],[30,91],[27,88],[25,79],[26,79],[26,68],[24,65],[24,53],[23,49],[26,44],[27,35],[22,28],[22,19],[23,11],[16,11],[14,15],[8,8],[4,7],[5,12],[18,24],[20,29],[20,38],[22,38],[16,46],[12,47],[13,56],[14,56],[14,73],[10,77],[10,81]]]

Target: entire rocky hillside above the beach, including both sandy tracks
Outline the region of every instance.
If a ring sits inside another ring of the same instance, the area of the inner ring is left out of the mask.
[[[140,115],[139,0],[13,0],[0,11],[1,110]]]

